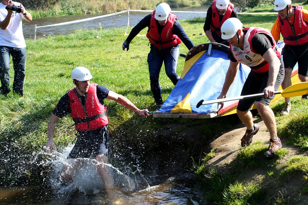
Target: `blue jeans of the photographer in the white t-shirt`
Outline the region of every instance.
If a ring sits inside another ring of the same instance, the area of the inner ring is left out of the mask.
[[[12,56],[14,68],[13,92],[23,96],[23,84],[26,71],[26,48],[0,46],[0,93],[7,95],[11,91],[9,88],[10,56]]]

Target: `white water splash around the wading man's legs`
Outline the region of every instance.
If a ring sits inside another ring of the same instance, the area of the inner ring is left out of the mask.
[[[66,183],[61,179],[60,175],[64,165],[70,166],[73,161],[72,159],[67,159],[72,148],[73,145],[71,144],[64,148],[62,153],[54,152],[53,154],[48,154],[54,158],[54,160],[50,161],[53,164],[54,170],[51,171],[49,178],[54,191],[53,203],[73,203],[73,198],[77,200],[74,203],[85,203],[98,196],[100,199],[107,200],[106,195],[102,196],[105,194],[104,183],[99,176],[95,165],[96,160],[94,159],[76,159],[80,166],[72,174],[73,181]],[[150,187],[138,169],[133,172],[131,168],[126,167],[123,173],[111,164],[102,164],[102,166],[107,166],[109,173],[113,177],[116,197]]]

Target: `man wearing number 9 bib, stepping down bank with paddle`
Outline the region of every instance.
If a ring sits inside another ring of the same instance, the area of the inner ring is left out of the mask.
[[[264,97],[242,99],[237,105],[237,115],[246,126],[246,132],[241,138],[241,146],[252,143],[253,135],[259,131],[259,125],[253,123],[251,107],[256,103],[265,126],[270,133],[270,145],[265,157],[273,157],[275,152],[282,148],[277,136],[275,115],[269,107],[274,98],[274,92],[278,90],[284,76],[283,61],[276,42],[270,31],[264,28],[246,27],[237,18],[229,18],[221,26],[221,37],[230,43],[230,65],[226,73],[225,82],[221,94],[217,99],[227,97],[232,85],[239,62],[251,68],[244,83],[241,96],[264,93]],[[223,105],[223,103],[220,103]]]

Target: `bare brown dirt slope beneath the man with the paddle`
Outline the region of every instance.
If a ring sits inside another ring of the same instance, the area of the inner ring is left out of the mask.
[[[260,129],[258,133],[253,136],[253,142],[260,141],[262,144],[268,146],[270,136],[264,122],[261,118],[254,120],[254,122],[259,124]],[[215,168],[217,168],[217,170],[221,173],[227,173],[229,171],[230,164],[233,164],[237,151],[241,148],[241,137],[244,135],[245,129],[245,126],[241,124],[211,142],[209,144],[209,149],[215,148],[215,157],[209,160],[206,163],[206,166],[215,166]],[[288,158],[290,157],[308,155],[308,152],[304,152],[299,148],[287,146],[284,138],[281,138],[281,141],[282,148],[289,152],[289,154],[283,159],[279,159],[278,164],[281,168],[286,165]],[[291,202],[296,202],[296,204],[308,204],[308,195],[304,193],[301,195],[299,194],[299,191],[303,192],[303,186],[305,184],[302,172],[288,174],[287,176],[279,179],[279,186],[277,186],[277,181],[275,181],[275,179],[277,179],[276,177],[279,176],[279,173],[277,173],[277,176],[275,177],[268,177],[268,171],[271,170],[270,165],[277,161],[275,158],[268,159],[270,160],[268,161],[265,157],[260,157],[263,158],[262,160],[264,160],[263,164],[265,164],[265,166],[249,169],[247,172],[238,173],[238,181],[252,183],[262,182],[262,187],[265,187],[265,189],[267,187],[268,189],[267,196],[271,201],[269,202],[266,199],[264,201],[264,204],[266,205],[276,204],[279,199],[286,200],[286,203],[284,204],[294,204]]]

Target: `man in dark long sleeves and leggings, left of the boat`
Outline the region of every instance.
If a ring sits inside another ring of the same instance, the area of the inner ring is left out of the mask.
[[[168,4],[161,3],[152,14],[144,17],[130,32],[122,47],[128,51],[132,39],[141,30],[148,27],[147,37],[150,41],[150,53],[148,54],[148,68],[150,73],[151,91],[156,103],[155,110],[163,104],[159,73],[161,66],[165,65],[167,76],[176,85],[180,77],[176,74],[176,65],[179,57],[179,43],[183,42],[190,50],[194,47],[183,27],[176,20],[176,15],[170,13]]]

